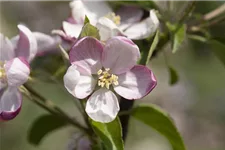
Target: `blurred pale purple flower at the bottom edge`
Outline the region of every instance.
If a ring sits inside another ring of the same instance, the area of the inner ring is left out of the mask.
[[[87,136],[75,133],[69,141],[68,150],[91,150],[91,141]]]

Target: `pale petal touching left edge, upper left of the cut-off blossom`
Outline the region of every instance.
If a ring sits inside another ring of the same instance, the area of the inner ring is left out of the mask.
[[[15,56],[13,45],[10,40],[0,33],[0,61],[4,62]]]

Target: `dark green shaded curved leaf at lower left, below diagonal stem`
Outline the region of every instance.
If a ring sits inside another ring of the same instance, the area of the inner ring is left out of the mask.
[[[42,115],[38,117],[28,131],[28,141],[38,145],[41,140],[49,133],[68,125],[68,122],[53,115]]]

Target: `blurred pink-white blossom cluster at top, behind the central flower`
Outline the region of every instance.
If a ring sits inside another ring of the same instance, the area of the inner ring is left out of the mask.
[[[149,11],[149,17],[142,20],[143,10],[137,7],[121,7],[117,12],[112,9],[104,0],[70,2],[71,17],[63,22],[63,30],[53,30],[66,40],[76,39],[82,29],[85,15],[92,25],[99,29],[102,41],[110,37],[124,35],[130,39],[144,39],[156,31],[159,20],[154,10]]]

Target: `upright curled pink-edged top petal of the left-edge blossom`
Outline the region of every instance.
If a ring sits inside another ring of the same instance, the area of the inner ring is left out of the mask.
[[[30,62],[37,54],[37,40],[26,26],[20,24],[17,27],[20,30],[16,49],[17,57],[24,57]]]

